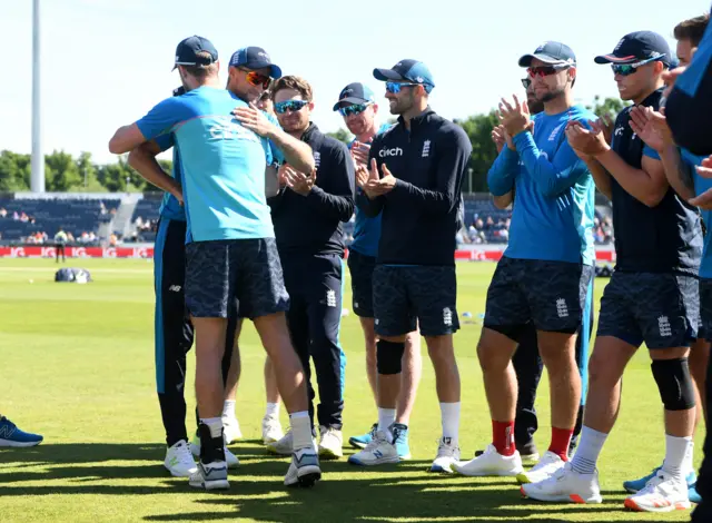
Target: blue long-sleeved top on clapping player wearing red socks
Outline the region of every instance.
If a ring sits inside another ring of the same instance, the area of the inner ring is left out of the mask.
[[[558,115],[532,117],[534,135],[514,137],[487,174],[490,191],[503,196],[513,188],[510,243],[504,256],[593,265],[595,186],[589,168],[566,140],[566,124],[596,116],[582,106]]]

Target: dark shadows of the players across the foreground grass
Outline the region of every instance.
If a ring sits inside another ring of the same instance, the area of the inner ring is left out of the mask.
[[[195,510],[179,513],[144,514],[144,521],[181,522],[251,519],[256,521],[388,522],[407,519],[415,523],[452,521],[550,521],[568,522],[591,515],[597,523],[619,522],[624,493],[611,492],[603,505],[547,505],[524,500],[510,478],[469,481],[462,476],[426,474],[429,462],[360,468],[345,461],[324,462],[324,481],[314,489],[287,489],[283,484],[289,460],[260,453],[258,445],[231,446],[240,457],[230,473],[229,491],[205,493],[192,490],[186,478],[172,478],[162,466],[161,444],[47,444],[32,448],[0,451],[0,497],[43,495],[145,496],[185,494],[195,500]],[[149,462],[126,464],[117,462]],[[111,463],[107,463],[111,462]],[[41,466],[43,471],[28,470]],[[333,475],[339,475],[329,481]],[[126,484],[127,480],[152,480],[150,485]],[[61,484],[37,482],[65,480]],[[109,481],[107,484],[106,481]],[[111,480],[121,480],[111,484]],[[23,485],[34,482],[34,485]],[[96,484],[96,482],[103,482]],[[605,493],[604,493],[605,494]],[[138,515],[138,514],[137,514]],[[650,514],[649,516],[652,516]],[[634,517],[630,517],[633,520]],[[664,519],[649,520],[666,521]],[[584,520],[585,521],[585,520]]]

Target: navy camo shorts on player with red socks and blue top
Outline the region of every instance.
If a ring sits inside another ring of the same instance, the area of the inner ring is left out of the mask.
[[[487,289],[484,326],[512,337],[531,320],[537,330],[574,334],[593,274],[591,265],[503,256]]]

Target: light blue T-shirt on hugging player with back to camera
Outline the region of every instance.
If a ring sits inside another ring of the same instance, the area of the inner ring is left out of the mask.
[[[244,128],[231,111],[248,107],[225,89],[199,87],[171,97],[137,121],[147,140],[172,134],[180,151],[186,241],[274,238],[265,197],[269,140]]]

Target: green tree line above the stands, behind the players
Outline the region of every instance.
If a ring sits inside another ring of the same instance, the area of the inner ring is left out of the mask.
[[[616,115],[623,109],[621,100],[614,98],[601,99],[596,97],[589,107],[597,116],[603,114]],[[464,120],[455,120],[463,127],[472,142],[471,165],[472,176],[466,177],[463,190],[486,191],[487,170],[494,161],[497,151],[490,135],[497,124],[495,111],[475,115]],[[344,129],[329,132],[329,136],[348,142],[352,137]],[[164,169],[170,171],[170,160],[159,160]],[[30,190],[30,155],[22,155],[9,150],[0,151],[0,193]],[[112,164],[96,164],[90,152],[81,152],[78,158],[65,151],[53,151],[44,156],[46,189],[52,193],[134,193],[158,190],[147,184],[138,172],[120,156]],[[472,180],[472,186],[471,186]]]

